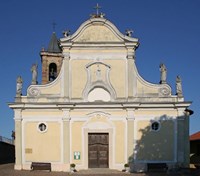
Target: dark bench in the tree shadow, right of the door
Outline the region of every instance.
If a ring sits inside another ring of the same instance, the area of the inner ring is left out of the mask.
[[[166,163],[147,163],[148,172],[166,172],[168,166]]]

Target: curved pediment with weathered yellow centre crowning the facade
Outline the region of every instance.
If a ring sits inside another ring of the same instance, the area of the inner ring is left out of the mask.
[[[133,42],[137,44],[138,39],[122,34],[114,24],[105,18],[91,18],[84,22],[71,36],[61,39],[64,43],[123,43]]]

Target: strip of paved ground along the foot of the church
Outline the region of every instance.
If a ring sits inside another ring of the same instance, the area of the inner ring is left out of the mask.
[[[124,173],[111,169],[88,169],[76,173],[49,171],[17,171],[14,164],[0,165],[0,176],[200,176],[200,170],[183,170],[174,174],[167,173]]]

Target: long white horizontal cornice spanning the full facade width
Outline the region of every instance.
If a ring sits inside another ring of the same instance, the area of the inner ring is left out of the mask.
[[[12,109],[127,109],[127,108],[187,108],[191,105],[191,102],[124,102],[124,103],[114,103],[114,102],[77,102],[77,103],[9,103]]]

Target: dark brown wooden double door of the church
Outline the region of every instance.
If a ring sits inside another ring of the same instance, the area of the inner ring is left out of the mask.
[[[108,133],[88,134],[89,168],[108,168],[109,135]]]

